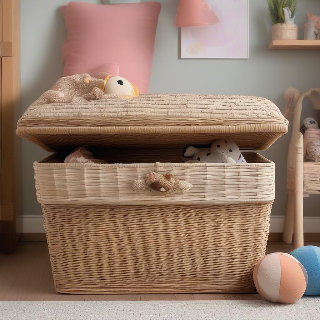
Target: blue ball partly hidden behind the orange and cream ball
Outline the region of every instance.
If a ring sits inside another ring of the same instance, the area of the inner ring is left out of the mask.
[[[304,294],[320,295],[320,248],[306,245],[290,252],[307,270],[308,285]]]

